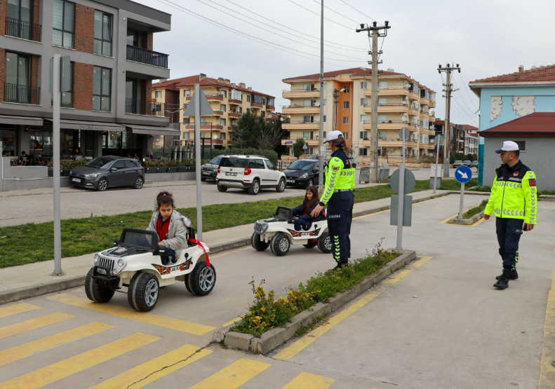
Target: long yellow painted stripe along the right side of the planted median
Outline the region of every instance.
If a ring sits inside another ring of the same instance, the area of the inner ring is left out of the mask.
[[[295,355],[300,353],[300,351],[302,351],[305,347],[307,347],[310,343],[318,339],[323,334],[326,334],[326,332],[328,332],[335,325],[340,323],[343,319],[348,318],[349,315],[352,315],[352,313],[355,313],[357,310],[365,306],[367,303],[375,299],[377,296],[380,296],[382,292],[384,292],[389,287],[391,287],[394,283],[398,282],[403,277],[408,275],[408,273],[413,271],[415,268],[424,264],[424,262],[428,261],[430,258],[432,257],[422,257],[414,264],[408,266],[406,269],[399,272],[399,274],[397,274],[394,278],[391,278],[385,281],[382,285],[378,286],[376,289],[368,293],[362,299],[360,299],[359,301],[356,301],[355,303],[352,303],[351,306],[349,306],[345,310],[342,310],[340,313],[337,313],[337,315],[333,316],[333,318],[331,318],[325,325],[322,325],[321,327],[314,329],[313,331],[309,332],[309,334],[303,336],[295,343],[281,350],[279,353],[274,355],[274,359],[286,361],[294,357]]]

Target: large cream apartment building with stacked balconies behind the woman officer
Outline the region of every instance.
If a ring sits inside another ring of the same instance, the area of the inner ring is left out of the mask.
[[[290,137],[282,139],[282,144],[291,146],[295,139],[302,138],[310,153],[317,151],[320,121],[323,121],[326,133],[334,129],[343,132],[357,163],[369,163],[370,69],[328,71],[323,76],[323,102],[320,101],[320,74],[282,80],[290,85],[290,89],[283,90],[283,98],[290,100],[290,104],[282,109],[283,114],[290,115],[290,123],[283,124],[283,128],[290,131]],[[403,145],[399,130],[407,127],[410,137],[406,141],[406,156],[428,155],[429,150],[434,149],[429,135],[435,135],[435,118],[429,109],[436,107],[436,93],[392,69],[380,71],[378,76],[378,146],[385,151],[389,161],[398,161],[402,158]],[[323,118],[320,118],[321,104]],[[290,155],[293,155],[292,151]]]

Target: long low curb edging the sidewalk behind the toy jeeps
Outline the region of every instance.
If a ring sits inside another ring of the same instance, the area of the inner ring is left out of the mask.
[[[460,192],[446,191],[444,193],[432,194],[424,198],[413,200],[413,204],[422,203],[422,201],[432,200],[434,198],[440,198],[440,197],[448,196],[450,194],[455,194],[455,193],[460,193]],[[465,193],[469,193],[469,192],[465,192]],[[469,193],[469,194],[478,194],[478,193]],[[486,193],[486,195],[489,196],[490,193]],[[375,207],[370,210],[353,212],[353,217],[360,217],[360,216],[365,216],[366,214],[373,214],[376,212],[387,211],[390,208],[391,207],[389,205],[385,205],[383,207]],[[243,247],[248,245],[250,245],[250,236],[248,238],[233,240],[232,242],[229,242],[229,243],[213,245],[212,247],[210,247],[210,254],[216,254],[218,252],[222,252],[225,250],[232,250],[237,247]],[[85,285],[85,277],[86,275],[79,275],[72,278],[48,282],[48,284],[32,285],[29,287],[22,287],[19,289],[0,292],[0,304],[10,303],[10,302],[18,301],[22,299],[29,299],[30,297],[41,296],[42,294],[47,294],[51,292],[60,292],[60,290],[69,289],[72,287],[83,286]]]

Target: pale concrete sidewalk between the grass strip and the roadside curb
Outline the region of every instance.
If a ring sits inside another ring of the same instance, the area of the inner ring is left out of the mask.
[[[413,202],[421,202],[435,197],[448,195],[448,191],[421,191],[412,193]],[[389,209],[390,198],[368,201],[354,205],[353,216],[362,216]],[[270,215],[268,215],[270,216]],[[250,245],[254,224],[245,224],[203,233],[203,242],[215,254],[235,247]],[[86,273],[93,264],[95,253],[62,259],[65,275],[52,276],[54,261],[42,261],[23,266],[0,269],[0,303],[27,299],[58,290],[83,285]]]

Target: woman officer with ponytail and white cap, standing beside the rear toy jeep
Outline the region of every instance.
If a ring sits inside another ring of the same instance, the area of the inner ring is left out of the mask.
[[[347,157],[347,144],[340,131],[331,131],[328,140],[332,151],[330,162],[326,168],[326,186],[323,189],[320,203],[312,210],[316,217],[328,205],[328,231],[332,241],[332,254],[336,266],[335,271],[342,266],[348,266],[351,256],[351,222],[353,217],[354,175],[356,164]]]

